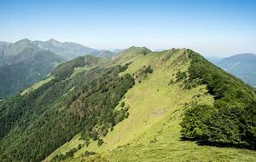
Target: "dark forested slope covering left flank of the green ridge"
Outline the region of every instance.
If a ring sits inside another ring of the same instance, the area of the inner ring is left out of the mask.
[[[68,61],[41,87],[1,101],[0,159],[40,161],[75,134],[100,139],[124,119],[127,110],[113,107],[134,80],[119,77],[125,66],[97,67],[101,62],[89,55]],[[86,69],[71,76],[79,67]]]

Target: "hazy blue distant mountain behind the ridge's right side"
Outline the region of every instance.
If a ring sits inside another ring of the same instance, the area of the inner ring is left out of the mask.
[[[256,55],[254,54],[238,54],[219,58],[207,58],[218,67],[223,68],[226,72],[230,72],[237,78],[241,78],[247,84],[256,86]]]

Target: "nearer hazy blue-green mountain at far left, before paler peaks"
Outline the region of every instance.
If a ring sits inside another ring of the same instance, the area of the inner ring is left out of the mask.
[[[27,39],[3,43],[0,56],[0,98],[14,95],[45,78],[63,61],[60,55],[40,49]]]

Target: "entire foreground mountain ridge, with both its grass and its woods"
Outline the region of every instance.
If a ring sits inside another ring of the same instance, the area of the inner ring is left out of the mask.
[[[190,49],[85,55],[0,101],[0,159],[255,161],[255,100]]]

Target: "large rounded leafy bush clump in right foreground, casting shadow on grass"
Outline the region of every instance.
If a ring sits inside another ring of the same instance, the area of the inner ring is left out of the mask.
[[[246,108],[197,105],[185,113],[182,136],[213,145],[255,149],[256,105]]]

